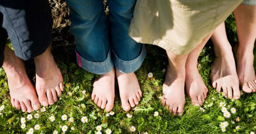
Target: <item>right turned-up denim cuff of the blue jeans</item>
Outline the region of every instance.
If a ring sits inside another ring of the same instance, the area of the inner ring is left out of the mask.
[[[132,73],[135,72],[139,67],[141,66],[142,62],[144,61],[147,51],[145,48],[145,44],[142,46],[141,54],[139,56],[131,61],[123,61],[120,59],[117,54],[115,54],[115,51],[113,50],[113,57],[114,57],[114,63],[115,63],[115,69],[118,69],[122,73]]]

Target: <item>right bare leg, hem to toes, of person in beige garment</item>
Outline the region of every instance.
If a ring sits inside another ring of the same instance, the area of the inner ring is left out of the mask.
[[[200,52],[202,51],[203,47],[205,46],[211,35],[212,33],[206,36],[203,39],[202,43],[200,43],[193,51],[189,53],[188,58],[186,59],[186,93],[191,98],[193,105],[203,105],[206,94],[208,92],[208,89],[205,86],[205,83],[203,82],[202,77],[198,72],[197,61]]]

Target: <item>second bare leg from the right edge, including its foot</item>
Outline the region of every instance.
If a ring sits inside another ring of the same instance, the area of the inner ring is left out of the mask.
[[[239,99],[239,80],[235,69],[235,59],[227,39],[224,22],[214,31],[211,40],[216,55],[211,68],[213,87],[217,92],[222,89],[225,97]]]

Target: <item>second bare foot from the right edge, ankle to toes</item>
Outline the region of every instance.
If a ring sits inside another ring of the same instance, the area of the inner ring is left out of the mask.
[[[211,68],[211,82],[213,88],[220,93],[221,89],[225,93],[225,97],[239,99],[239,80],[235,69],[235,59],[232,54],[231,47],[223,54],[216,54],[216,58]]]

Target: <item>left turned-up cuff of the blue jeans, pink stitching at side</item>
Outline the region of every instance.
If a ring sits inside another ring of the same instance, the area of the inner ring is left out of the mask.
[[[76,54],[77,54],[78,66],[80,66],[81,68],[85,69],[90,73],[102,75],[110,72],[114,67],[114,62],[111,57],[111,50],[109,50],[109,53],[107,54],[107,59],[103,62],[88,61],[85,58],[81,57],[81,55],[77,52],[77,50],[76,50]]]

